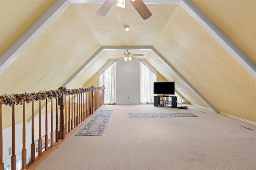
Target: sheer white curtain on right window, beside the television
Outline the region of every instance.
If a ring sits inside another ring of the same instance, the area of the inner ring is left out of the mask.
[[[140,104],[154,103],[154,82],[156,74],[140,61]]]

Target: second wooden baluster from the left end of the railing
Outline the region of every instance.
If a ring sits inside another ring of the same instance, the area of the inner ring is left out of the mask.
[[[14,105],[12,105],[12,156],[11,156],[11,170],[16,170],[16,154],[15,154],[15,112],[14,112]]]

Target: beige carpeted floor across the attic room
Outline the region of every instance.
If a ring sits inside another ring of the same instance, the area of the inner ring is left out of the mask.
[[[256,169],[255,125],[187,106],[186,112],[198,117],[129,118],[128,113],[184,110],[106,105],[101,109],[113,111],[101,136],[76,137],[74,133],[35,170]]]

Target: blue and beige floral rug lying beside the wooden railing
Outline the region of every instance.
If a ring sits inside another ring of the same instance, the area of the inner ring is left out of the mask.
[[[76,136],[102,135],[109,119],[108,115],[95,115]]]

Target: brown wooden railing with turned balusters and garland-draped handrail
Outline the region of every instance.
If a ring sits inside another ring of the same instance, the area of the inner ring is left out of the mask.
[[[23,109],[17,110],[16,105],[22,105]],[[31,106],[29,117],[26,117],[28,115],[26,114],[26,111],[28,111],[26,105]],[[38,108],[35,109],[35,105]],[[10,168],[16,170],[17,135],[15,132],[15,116],[17,114],[22,114],[21,169],[27,169],[40,160],[48,151],[54,149],[60,141],[102,105],[104,105],[104,86],[79,89],[60,87],[58,90],[40,91],[38,93],[0,95],[0,170],[5,168],[3,162],[3,140],[5,138],[3,138],[2,123],[6,120],[2,120],[2,115],[8,114],[2,113],[3,107],[12,107]],[[42,117],[44,117],[44,122],[42,122]],[[38,128],[35,127],[35,119],[38,121]],[[28,124],[31,124],[31,126],[28,127]],[[45,131],[42,131],[42,127]],[[38,135],[35,135],[35,132]],[[26,138],[26,133],[31,133],[31,139]],[[44,134],[43,137],[42,133]],[[31,142],[28,143],[28,141]],[[27,153],[27,149],[30,150],[30,153]]]

